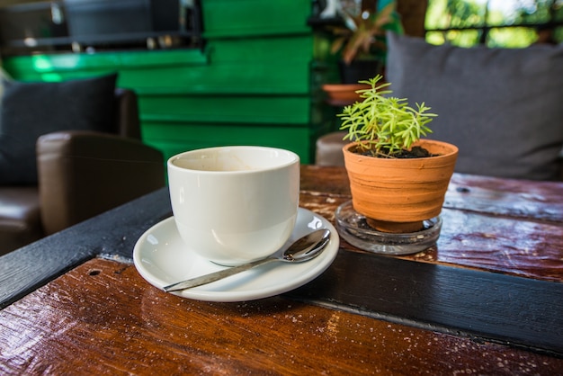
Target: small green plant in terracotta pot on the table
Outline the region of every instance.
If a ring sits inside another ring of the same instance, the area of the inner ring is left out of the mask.
[[[424,103],[416,107],[390,96],[389,83],[378,75],[363,81],[361,101],[344,107],[338,116],[344,139],[344,166],[350,178],[353,210],[371,228],[412,233],[442,210],[458,148],[422,139],[435,114]]]

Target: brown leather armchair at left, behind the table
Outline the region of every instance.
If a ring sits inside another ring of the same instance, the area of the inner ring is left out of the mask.
[[[0,255],[165,185],[162,153],[141,141],[137,95],[118,88],[112,133],[37,140],[39,184],[0,186]]]

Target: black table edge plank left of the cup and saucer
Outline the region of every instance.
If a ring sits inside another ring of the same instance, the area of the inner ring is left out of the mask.
[[[162,188],[0,256],[0,309],[96,255],[130,259],[137,239],[171,213]]]

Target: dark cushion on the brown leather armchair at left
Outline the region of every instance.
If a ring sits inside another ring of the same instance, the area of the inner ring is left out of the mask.
[[[4,81],[0,107],[0,184],[36,184],[35,143],[59,130],[108,131],[117,75],[58,83]]]

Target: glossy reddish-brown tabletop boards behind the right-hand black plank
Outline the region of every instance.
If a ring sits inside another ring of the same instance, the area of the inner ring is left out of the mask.
[[[334,222],[351,197],[344,168],[304,166],[301,177],[301,205]],[[563,282],[562,198],[561,183],[454,174],[437,245],[398,257]]]

